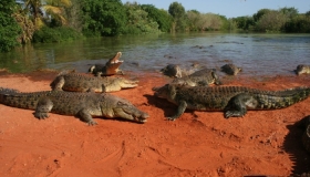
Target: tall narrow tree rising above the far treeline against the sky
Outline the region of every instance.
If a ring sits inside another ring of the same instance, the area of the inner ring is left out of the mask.
[[[168,12],[174,20],[174,31],[185,31],[187,19],[184,7],[178,2],[173,2],[169,6]]]

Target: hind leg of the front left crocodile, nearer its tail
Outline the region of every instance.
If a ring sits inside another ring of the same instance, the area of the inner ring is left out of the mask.
[[[39,119],[45,119],[49,117],[49,112],[53,108],[53,102],[48,98],[43,97],[41,98],[35,107],[35,112],[33,113],[34,117]]]

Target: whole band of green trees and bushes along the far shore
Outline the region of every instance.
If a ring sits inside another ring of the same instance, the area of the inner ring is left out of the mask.
[[[121,0],[1,0],[0,51],[31,42],[61,42],[90,37],[190,31],[310,32],[310,11],[261,9],[252,17],[168,11]]]

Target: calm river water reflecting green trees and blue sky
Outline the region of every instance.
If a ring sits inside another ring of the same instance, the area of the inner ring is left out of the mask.
[[[124,71],[153,72],[168,63],[189,66],[193,62],[219,69],[232,62],[244,69],[242,74],[292,74],[298,64],[310,64],[310,35],[183,33],[34,44],[0,53],[0,69],[86,72],[90,64],[105,63],[118,51]]]

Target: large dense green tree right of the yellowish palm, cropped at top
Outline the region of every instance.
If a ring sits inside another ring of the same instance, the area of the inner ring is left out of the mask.
[[[126,24],[126,9],[121,0],[82,0],[83,33],[117,35]]]

